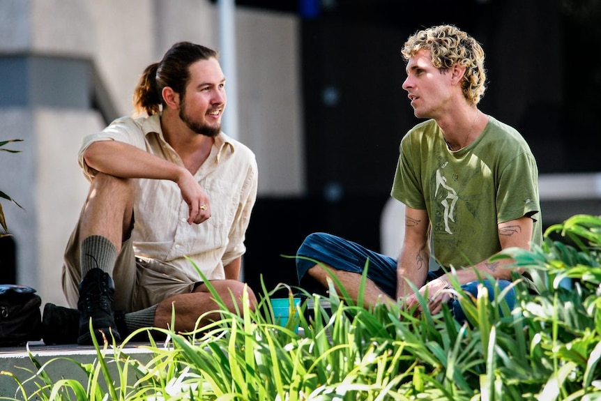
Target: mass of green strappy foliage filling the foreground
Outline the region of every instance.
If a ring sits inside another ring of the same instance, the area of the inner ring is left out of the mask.
[[[52,383],[52,362],[26,381],[10,375],[29,400],[599,400],[600,245],[601,219],[574,216],[550,227],[540,247],[504,252],[539,273],[539,294],[516,280],[509,312],[503,292],[495,288],[489,301],[481,286],[476,299],[460,298],[464,325],[448,308],[435,316],[402,305],[367,310],[289,288],[305,301],[280,326],[269,302],[279,288],[263,287],[256,308],[244,298],[243,310],[223,310],[192,333],[164,331],[164,345],[146,347],[148,363],[126,355],[129,338],[112,353],[96,345],[98,361],[82,365],[87,385]],[[26,395],[31,382],[38,391]]]

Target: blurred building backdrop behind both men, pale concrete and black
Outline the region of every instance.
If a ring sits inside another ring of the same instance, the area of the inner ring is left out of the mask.
[[[383,249],[398,146],[418,122],[401,88],[400,47],[432,24],[456,24],[482,43],[481,108],[531,144],[544,225],[601,214],[601,70],[591,59],[600,8],[595,0],[236,1],[236,74],[227,79],[237,88],[237,137],[259,164],[245,279],[257,289],[261,275],[267,287],[296,285],[294,260],[282,255],[314,231]],[[0,282],[64,303],[62,254],[88,187],[77,165],[82,137],[132,114],[139,75],[174,42],[220,50],[220,10],[218,0],[0,0],[0,141],[24,139],[12,146],[22,153],[0,152],[0,190],[23,206],[2,201],[13,236],[0,240]]]

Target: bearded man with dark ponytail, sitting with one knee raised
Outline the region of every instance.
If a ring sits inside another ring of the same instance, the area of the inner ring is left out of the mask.
[[[144,70],[134,103],[140,116],[85,137],[79,151],[91,188],[65,252],[73,309],[45,305],[47,344],[119,341],[172,317],[172,329],[191,331],[219,317],[205,280],[231,312],[244,292],[256,302],[239,275],[257,162],[221,130],[218,54],[176,43]]]

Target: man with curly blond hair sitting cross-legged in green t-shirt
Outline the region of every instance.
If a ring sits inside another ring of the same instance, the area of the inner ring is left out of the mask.
[[[486,70],[476,39],[441,25],[414,33],[402,54],[403,89],[415,116],[426,121],[403,137],[391,191],[405,205],[400,255],[395,259],[314,233],[298,250],[300,284],[328,288],[333,274],[356,301],[367,264],[362,294],[367,306],[400,300],[420,312],[417,289],[432,313],[448,303],[463,320],[452,290],[457,280],[473,296],[482,282],[491,297],[496,281],[499,289],[507,288],[505,299],[512,308],[516,268],[511,259],[490,258],[542,241],[535,159],[517,130],[478,109]],[[429,271],[431,244],[441,266],[437,271]]]

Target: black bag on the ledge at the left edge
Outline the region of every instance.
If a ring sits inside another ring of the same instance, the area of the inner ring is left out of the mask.
[[[24,285],[0,285],[0,347],[42,338],[42,298]]]

